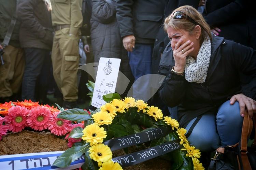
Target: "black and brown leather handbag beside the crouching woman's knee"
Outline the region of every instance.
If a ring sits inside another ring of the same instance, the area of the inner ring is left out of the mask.
[[[254,143],[247,147],[253,129],[253,120],[247,111],[243,120],[240,142],[232,146],[219,147],[211,158],[209,170],[256,170],[256,115],[254,114]]]

